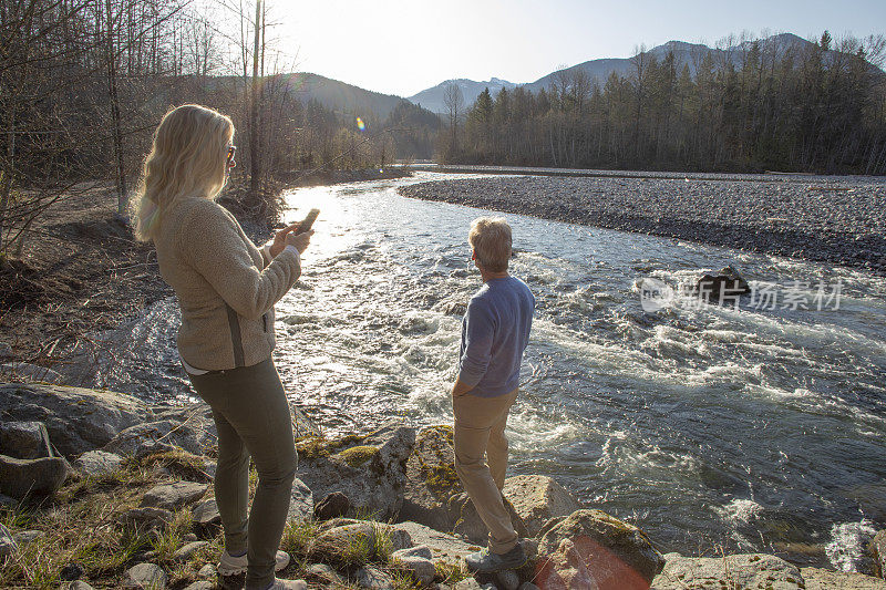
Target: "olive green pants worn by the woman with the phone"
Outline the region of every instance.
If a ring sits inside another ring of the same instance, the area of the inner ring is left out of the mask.
[[[274,582],[277,548],[286,527],[298,468],[289,402],[274,362],[189,375],[213,410],[218,428],[215,499],[229,553],[248,551],[246,588]],[[249,457],[258,489],[249,505]]]

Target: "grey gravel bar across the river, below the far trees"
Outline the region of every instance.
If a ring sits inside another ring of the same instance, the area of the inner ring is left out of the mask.
[[[639,174],[639,173],[638,173]],[[886,275],[886,183],[864,177],[490,176],[406,197],[804,258]]]

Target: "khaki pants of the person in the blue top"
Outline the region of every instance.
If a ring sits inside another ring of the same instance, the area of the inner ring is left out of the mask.
[[[455,473],[490,530],[490,551],[506,553],[517,544],[517,531],[502,500],[507,470],[507,414],[517,391],[497,397],[461,395],[452,401]]]

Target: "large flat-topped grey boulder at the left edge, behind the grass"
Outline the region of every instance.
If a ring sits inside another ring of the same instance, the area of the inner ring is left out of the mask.
[[[64,456],[100,448],[150,416],[144,403],[121,393],[37,383],[0,385],[0,421],[42,422]]]

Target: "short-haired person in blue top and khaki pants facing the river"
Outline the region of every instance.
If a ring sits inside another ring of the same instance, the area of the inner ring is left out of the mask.
[[[507,414],[517,397],[519,364],[529,340],[535,298],[507,273],[511,226],[475,219],[468,234],[483,287],[462,322],[459,377],[452,387],[455,472],[490,530],[488,549],[466,558],[471,571],[514,569],[526,562],[502,497],[507,469]]]

